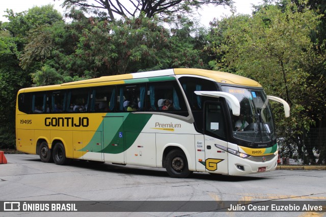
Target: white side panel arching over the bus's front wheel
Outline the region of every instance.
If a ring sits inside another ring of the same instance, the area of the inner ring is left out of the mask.
[[[157,167],[162,167],[164,150],[169,146],[179,147],[185,153],[188,161],[188,168],[196,171],[195,163],[195,135],[194,134],[156,134],[156,156]]]

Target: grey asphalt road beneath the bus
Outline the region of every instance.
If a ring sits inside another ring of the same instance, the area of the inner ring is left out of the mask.
[[[276,170],[247,176],[194,173],[171,178],[162,168],[74,161],[58,166],[30,154],[6,154],[0,164],[0,201],[326,201],[325,170]],[[132,204],[131,204],[132,205]],[[135,205],[135,204],[133,204]],[[139,205],[139,204],[136,204]],[[157,204],[154,204],[157,205]],[[324,204],[326,206],[326,202]],[[83,208],[80,207],[79,208]],[[85,207],[84,207],[85,208]],[[80,210],[80,209],[79,209]],[[182,209],[181,209],[182,210]],[[94,210],[92,210],[94,211]],[[60,214],[61,213],[61,214]],[[89,216],[90,212],[48,212],[47,216]],[[0,216],[43,212],[0,212]],[[325,212],[96,212],[98,216],[326,216]]]

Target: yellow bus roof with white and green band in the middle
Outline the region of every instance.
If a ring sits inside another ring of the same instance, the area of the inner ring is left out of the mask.
[[[226,73],[226,72],[219,72],[219,71],[211,71],[211,70],[204,70],[204,69],[167,69],[167,70],[158,70],[158,71],[150,71],[150,72],[138,72],[138,73],[130,73],[130,74],[123,74],[123,75],[112,75],[112,76],[102,76],[100,78],[93,78],[87,80],[80,80],[74,81],[69,83],[57,84],[57,85],[50,85],[50,86],[41,86],[41,87],[31,87],[28,88],[29,91],[33,90],[47,90],[47,89],[62,89],[62,88],[72,88],[73,86],[78,85],[103,85],[103,82],[110,82],[110,84],[124,84],[129,83],[126,82],[132,79],[135,83],[138,82],[146,82],[150,80],[154,80],[157,77],[165,77],[168,78],[169,76],[182,76],[182,75],[193,75],[193,76],[202,76],[207,77],[216,82],[226,83],[226,84],[237,84],[237,85],[244,85],[244,86],[253,86],[253,87],[261,87],[261,85],[252,79],[242,77],[239,75]],[[162,80],[165,80],[162,78]],[[27,90],[27,88],[21,89]]]

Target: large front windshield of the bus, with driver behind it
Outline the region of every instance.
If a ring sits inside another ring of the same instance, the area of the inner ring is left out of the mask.
[[[275,128],[270,105],[263,89],[222,86],[224,92],[240,102],[240,115],[232,115],[233,137],[267,147],[275,140]]]

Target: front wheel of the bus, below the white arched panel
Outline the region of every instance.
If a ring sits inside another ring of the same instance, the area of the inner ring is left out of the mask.
[[[186,178],[193,173],[188,169],[188,161],[182,150],[171,150],[166,157],[165,167],[172,178]]]

